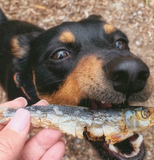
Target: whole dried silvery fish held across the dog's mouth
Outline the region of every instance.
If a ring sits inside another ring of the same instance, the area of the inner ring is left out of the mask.
[[[60,130],[83,139],[115,144],[154,125],[154,108],[112,107],[89,110],[72,106],[27,106],[33,127]],[[0,123],[9,121],[17,109],[0,108]]]

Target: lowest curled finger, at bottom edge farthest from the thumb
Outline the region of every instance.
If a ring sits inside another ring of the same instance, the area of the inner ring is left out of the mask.
[[[58,141],[43,155],[41,160],[61,160],[65,153],[65,143]]]

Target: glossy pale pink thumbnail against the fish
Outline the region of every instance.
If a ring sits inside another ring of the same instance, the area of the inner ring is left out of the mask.
[[[8,127],[16,130],[23,131],[30,121],[30,113],[25,109],[18,109],[13,116],[12,120],[9,122]]]

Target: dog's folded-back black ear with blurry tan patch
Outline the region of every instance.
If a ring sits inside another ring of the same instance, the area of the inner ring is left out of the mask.
[[[11,54],[14,57],[13,66],[15,72],[26,70],[29,59],[30,43],[40,34],[40,32],[31,32],[15,36],[11,39]]]

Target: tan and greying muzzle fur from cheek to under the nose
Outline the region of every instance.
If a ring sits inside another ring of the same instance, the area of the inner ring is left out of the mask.
[[[131,96],[128,101],[147,100],[151,92],[149,88],[150,81],[151,78],[149,77],[144,90]],[[78,105],[85,98],[114,104],[124,103],[126,100],[123,93],[116,92],[113,89],[103,70],[102,59],[94,54],[86,55],[80,59],[76,68],[67,76],[58,91],[51,95],[37,91],[37,95],[50,104],[73,106]]]

